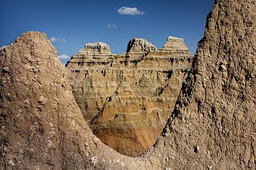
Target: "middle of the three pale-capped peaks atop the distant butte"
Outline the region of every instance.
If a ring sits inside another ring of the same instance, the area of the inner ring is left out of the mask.
[[[127,45],[126,52],[145,52],[145,51],[157,51],[158,49],[151,42],[146,39],[133,38]]]

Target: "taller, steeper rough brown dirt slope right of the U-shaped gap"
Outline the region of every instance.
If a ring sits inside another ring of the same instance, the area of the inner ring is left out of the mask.
[[[165,153],[170,169],[256,168],[255,28],[255,1],[216,1],[151,156]]]

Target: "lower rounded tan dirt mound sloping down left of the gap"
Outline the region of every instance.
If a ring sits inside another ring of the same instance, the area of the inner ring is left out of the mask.
[[[0,70],[0,169],[108,169],[110,158],[123,169],[124,157],[84,121],[45,34],[27,32],[2,49]]]

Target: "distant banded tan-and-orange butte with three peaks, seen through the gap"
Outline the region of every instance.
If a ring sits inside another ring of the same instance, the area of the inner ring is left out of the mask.
[[[192,54],[183,39],[174,37],[160,51],[145,39],[131,39],[121,55],[111,54],[108,45],[101,45],[105,53],[93,45],[86,44],[67,63],[73,95],[101,141],[139,156],[166,125]]]

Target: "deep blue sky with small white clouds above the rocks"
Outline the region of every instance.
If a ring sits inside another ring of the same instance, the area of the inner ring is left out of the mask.
[[[133,37],[162,48],[167,36],[182,37],[195,53],[214,0],[0,0],[0,47],[27,31],[52,39],[65,58],[86,42],[106,42],[115,54]],[[62,59],[65,62],[67,59]]]

